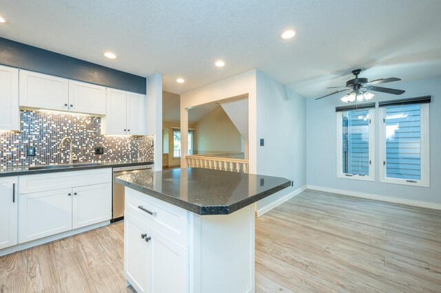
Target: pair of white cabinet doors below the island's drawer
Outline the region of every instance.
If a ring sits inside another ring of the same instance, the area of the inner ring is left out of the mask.
[[[136,292],[187,292],[187,248],[127,211],[124,224],[124,273]]]

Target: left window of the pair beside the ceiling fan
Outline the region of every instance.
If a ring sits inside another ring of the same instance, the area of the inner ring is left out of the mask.
[[[369,103],[369,108],[375,103]],[[340,109],[339,109],[340,108]],[[373,180],[373,109],[338,107],[338,177]]]

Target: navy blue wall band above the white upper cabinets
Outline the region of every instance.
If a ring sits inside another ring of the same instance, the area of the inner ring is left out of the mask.
[[[145,77],[0,38],[0,64],[146,94]]]

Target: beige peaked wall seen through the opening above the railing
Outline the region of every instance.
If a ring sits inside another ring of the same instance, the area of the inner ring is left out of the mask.
[[[201,118],[194,129],[196,153],[240,152],[242,150],[242,136],[220,106]]]

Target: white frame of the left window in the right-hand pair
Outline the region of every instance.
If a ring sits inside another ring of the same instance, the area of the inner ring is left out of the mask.
[[[361,109],[360,109],[361,110]],[[349,173],[343,173],[342,166],[342,112],[337,111],[337,177],[362,181],[375,181],[375,108],[369,108],[369,175],[356,175]]]

